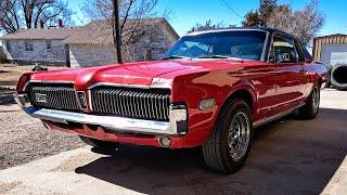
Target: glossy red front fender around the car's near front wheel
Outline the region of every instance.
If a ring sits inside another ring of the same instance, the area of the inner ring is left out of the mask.
[[[185,147],[202,145],[208,139],[222,106],[234,92],[244,90],[252,98],[252,102],[257,100],[255,87],[250,81],[220,72],[194,74],[187,76],[184,80],[184,88],[175,88],[172,93],[180,93],[180,95],[174,95],[176,98],[184,95],[184,102],[188,105],[189,132],[184,138]],[[206,99],[215,99],[216,104],[209,109],[201,110],[200,102]],[[174,101],[177,100],[182,99]],[[253,108],[255,106],[255,104],[252,105]]]

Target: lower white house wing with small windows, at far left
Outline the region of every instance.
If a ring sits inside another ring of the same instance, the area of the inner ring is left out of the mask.
[[[7,61],[20,64],[44,62],[49,65],[68,64],[68,48],[62,41],[76,28],[50,27],[22,29],[2,36]]]

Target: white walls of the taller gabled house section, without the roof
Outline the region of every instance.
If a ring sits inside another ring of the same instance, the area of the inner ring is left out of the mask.
[[[162,55],[177,41],[165,24],[157,24],[153,29],[128,50],[123,50],[124,62],[159,60]],[[69,44],[70,67],[89,67],[117,62],[116,49],[112,44]]]

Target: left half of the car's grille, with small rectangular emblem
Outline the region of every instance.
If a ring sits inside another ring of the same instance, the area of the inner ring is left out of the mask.
[[[30,103],[40,108],[62,110],[79,110],[73,84],[43,84],[29,86]]]

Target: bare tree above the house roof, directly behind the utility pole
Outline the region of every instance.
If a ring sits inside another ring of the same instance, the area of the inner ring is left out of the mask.
[[[123,48],[138,42],[149,31],[149,20],[158,15],[158,0],[120,0],[120,35]],[[107,28],[113,28],[112,0],[86,0],[82,8],[91,20],[106,21]]]

